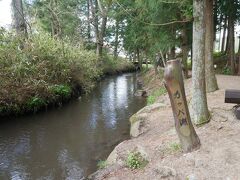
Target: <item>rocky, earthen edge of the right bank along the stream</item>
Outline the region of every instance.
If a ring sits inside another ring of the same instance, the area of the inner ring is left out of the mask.
[[[154,91],[159,89],[157,85],[162,84],[161,83],[162,80],[163,80],[162,70],[159,71],[159,75],[157,76],[155,75],[154,70],[151,68],[143,72],[140,72],[137,76],[138,83],[140,83],[141,86],[143,87],[141,91],[146,92],[147,97],[150,96]],[[165,93],[159,95],[159,97],[164,95]],[[147,131],[147,129],[145,128],[147,125],[144,124],[146,116],[149,113],[155,112],[156,110],[162,109],[164,107],[165,107],[165,104],[154,102],[152,104],[146,104],[143,108],[139,109],[135,114],[131,115],[130,118],[128,119],[130,123],[130,130],[129,130],[130,138],[117,144],[114,147],[114,149],[109,153],[109,155],[107,156],[107,159],[104,161],[106,167],[103,167],[103,168],[101,167],[100,169],[96,170],[95,172],[88,175],[87,177],[84,177],[82,180],[95,180],[95,179],[98,179],[99,176],[101,177],[103,174],[108,174],[108,172],[110,172],[111,170],[118,169],[120,165],[116,163],[117,160],[115,159],[116,148],[119,145],[123,144],[124,142],[127,142],[133,138],[137,138],[141,134],[145,133]]]

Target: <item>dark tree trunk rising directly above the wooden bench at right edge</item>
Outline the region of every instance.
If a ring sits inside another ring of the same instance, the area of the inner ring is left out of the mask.
[[[234,20],[232,16],[230,15],[228,18],[228,36],[229,36],[229,54],[228,59],[229,63],[231,65],[231,71],[234,74],[235,73],[235,50],[234,50]]]

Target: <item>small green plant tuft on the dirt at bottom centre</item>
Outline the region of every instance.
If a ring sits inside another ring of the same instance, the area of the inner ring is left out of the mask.
[[[144,159],[140,152],[131,152],[128,154],[126,165],[131,169],[144,168],[148,161]]]

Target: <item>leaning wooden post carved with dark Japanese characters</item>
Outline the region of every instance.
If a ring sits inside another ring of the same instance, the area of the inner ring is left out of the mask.
[[[192,125],[185,95],[182,67],[179,60],[170,60],[166,64],[164,84],[171,101],[175,128],[184,152],[200,147],[200,140]]]

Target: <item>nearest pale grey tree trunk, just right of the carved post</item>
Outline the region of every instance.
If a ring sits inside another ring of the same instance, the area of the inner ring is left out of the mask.
[[[203,124],[209,121],[205,83],[205,0],[193,1],[193,70],[192,109],[193,122]]]

